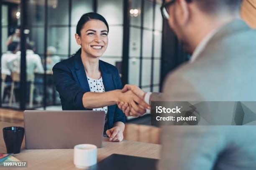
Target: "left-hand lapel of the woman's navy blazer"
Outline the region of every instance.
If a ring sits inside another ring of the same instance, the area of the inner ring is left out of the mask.
[[[80,86],[84,90],[90,92],[90,87],[87,81],[84,65],[83,65],[80,54],[77,54],[74,56],[74,67],[75,67],[75,72],[77,74],[77,80],[79,81]]]

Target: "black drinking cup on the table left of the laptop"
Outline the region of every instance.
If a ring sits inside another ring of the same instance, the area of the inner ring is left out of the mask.
[[[3,128],[7,153],[20,153],[20,147],[24,137],[24,128],[11,126]]]

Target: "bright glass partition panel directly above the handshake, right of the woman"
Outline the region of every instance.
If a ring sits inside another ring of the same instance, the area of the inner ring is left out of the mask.
[[[128,83],[159,92],[162,17],[161,0],[131,0]]]

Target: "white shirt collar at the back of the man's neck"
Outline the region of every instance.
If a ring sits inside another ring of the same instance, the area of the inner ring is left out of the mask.
[[[203,39],[202,41],[197,45],[197,47],[195,48],[189,62],[194,62],[197,57],[200,55],[200,53],[205,49],[207,43],[210,41],[210,39],[220,30],[220,28],[215,28],[214,30],[212,30],[210,33],[208,33]]]

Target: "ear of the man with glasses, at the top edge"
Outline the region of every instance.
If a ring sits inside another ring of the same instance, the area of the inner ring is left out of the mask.
[[[177,5],[179,6],[179,23],[182,25],[187,25],[190,18],[190,10],[188,6],[188,2],[186,0],[177,0]]]

